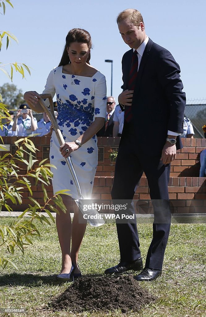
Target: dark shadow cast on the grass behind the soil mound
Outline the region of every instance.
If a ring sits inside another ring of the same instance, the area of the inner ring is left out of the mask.
[[[85,274],[82,277],[100,277],[103,274]],[[72,282],[72,279],[69,281]],[[65,283],[65,282],[64,282]],[[62,284],[56,280],[56,274],[37,275],[37,274],[5,274],[0,276],[0,286],[28,286],[38,287],[42,284],[58,285]]]

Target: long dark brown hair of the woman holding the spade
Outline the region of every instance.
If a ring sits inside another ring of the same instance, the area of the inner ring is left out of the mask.
[[[86,43],[89,50],[92,48],[92,40],[89,32],[87,32],[84,29],[71,29],[68,32],[68,35],[66,37],[66,45],[63,51],[63,55],[61,57],[61,61],[59,63],[59,66],[67,65],[70,62],[67,48],[70,46],[71,43],[78,42],[78,43]],[[91,58],[91,54],[89,51],[89,55],[87,58],[87,63],[89,64],[89,60]]]

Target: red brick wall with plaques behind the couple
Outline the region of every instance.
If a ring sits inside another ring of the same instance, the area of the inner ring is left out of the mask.
[[[10,144],[14,146],[14,141],[17,137],[4,137],[4,144]],[[36,153],[36,158],[41,161],[48,155],[50,138],[48,137],[35,137],[32,138],[36,148],[39,150]],[[172,204],[175,205],[176,212],[205,212],[206,210],[206,178],[199,178],[199,153],[205,149],[205,139],[182,139],[184,148],[178,150],[176,160],[171,164],[171,177],[169,182],[169,195],[172,200]],[[119,145],[119,138],[98,138],[99,147],[99,162],[97,167],[96,176],[94,179],[93,195],[94,199],[111,199],[111,189],[113,184],[114,167],[115,162],[109,157],[109,150],[111,148],[116,149]],[[14,151],[12,147],[12,151]],[[103,153],[104,152],[104,153]],[[2,156],[5,152],[0,152]],[[38,162],[35,166],[38,165]],[[23,165],[22,165],[23,167]],[[25,168],[25,166],[24,166]],[[22,171],[26,172],[25,170]],[[33,197],[43,204],[43,193],[41,184],[31,186],[33,191]],[[48,195],[53,195],[52,186],[47,187]],[[11,205],[13,210],[21,211],[28,207],[31,203],[28,198],[28,191],[23,192],[23,204]],[[151,205],[147,200],[150,199],[148,184],[145,176],[140,180],[139,186],[135,193],[134,199],[143,200],[144,208],[137,207],[137,212],[143,212],[144,209],[151,211]],[[187,201],[186,201],[187,200]],[[194,200],[196,200],[194,205]],[[205,202],[203,201],[205,200]],[[144,202],[145,201],[145,202]],[[174,202],[174,203],[173,203]],[[146,206],[146,207],[145,207]],[[148,207],[149,206],[149,207]]]

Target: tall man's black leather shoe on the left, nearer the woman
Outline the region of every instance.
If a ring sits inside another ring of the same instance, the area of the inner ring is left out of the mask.
[[[119,264],[113,266],[112,268],[107,268],[105,274],[122,274],[126,271],[134,270],[141,271],[143,269],[142,258],[132,262],[119,262]]]

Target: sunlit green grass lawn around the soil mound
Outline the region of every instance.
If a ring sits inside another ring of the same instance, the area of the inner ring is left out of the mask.
[[[13,218],[12,218],[13,219]],[[10,223],[11,218],[0,218],[0,223]],[[33,239],[34,245],[25,250],[25,256],[16,251],[9,258],[18,271],[8,266],[0,275],[1,292],[5,304],[0,307],[25,307],[27,316],[137,316],[137,317],[203,317],[206,316],[206,225],[174,224],[171,226],[163,275],[153,282],[142,282],[141,286],[157,296],[158,300],[138,313],[121,314],[119,311],[105,313],[70,314],[53,313],[45,309],[52,296],[61,294],[68,286],[58,284],[55,275],[61,269],[61,251],[55,225],[39,225],[41,238]],[[141,252],[145,261],[152,238],[151,224],[138,224]],[[1,248],[1,256],[7,256]],[[119,262],[119,248],[115,224],[100,228],[87,227],[79,255],[79,266],[83,275],[99,276],[104,270]],[[1,314],[2,316],[23,316]],[[25,315],[24,315],[25,316]]]

